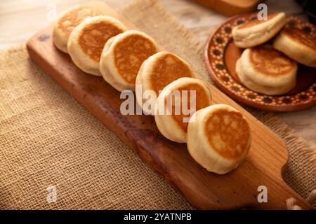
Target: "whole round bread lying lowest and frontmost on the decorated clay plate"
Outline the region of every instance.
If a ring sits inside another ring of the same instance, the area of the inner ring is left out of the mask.
[[[247,48],[236,63],[239,80],[251,90],[284,94],[296,85],[297,64],[270,45]]]

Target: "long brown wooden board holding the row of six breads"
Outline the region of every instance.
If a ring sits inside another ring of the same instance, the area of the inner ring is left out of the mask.
[[[136,29],[111,8],[108,15]],[[53,27],[39,31],[27,42],[32,60],[70,92],[109,130],[117,134],[138,156],[180,190],[197,209],[287,209],[285,200],[294,197],[303,209],[309,205],[282,179],[289,153],[284,142],[254,116],[210,85],[214,103],[234,106],[249,120],[253,142],[246,161],[234,171],[218,175],[193,160],[186,144],[177,144],[159,133],[152,116],[123,116],[119,108],[124,99],[101,77],[91,76],[72,63],[69,55],[55,48]],[[268,188],[268,203],[257,200],[258,186]]]

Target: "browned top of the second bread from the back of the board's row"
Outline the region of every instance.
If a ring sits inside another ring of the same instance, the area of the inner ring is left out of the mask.
[[[78,41],[79,46],[91,59],[99,62],[107,40],[123,31],[110,22],[100,21],[93,23],[82,30]]]

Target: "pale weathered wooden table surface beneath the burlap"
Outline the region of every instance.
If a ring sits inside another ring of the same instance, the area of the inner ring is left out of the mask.
[[[170,13],[204,43],[211,30],[227,17],[185,0],[160,0]],[[1,0],[0,1],[0,50],[13,43],[26,41],[39,29],[53,22],[62,10],[88,0]],[[120,7],[133,0],[106,0],[110,6]],[[268,10],[302,13],[293,0],[265,1]],[[276,113],[316,148],[316,106],[303,111]]]

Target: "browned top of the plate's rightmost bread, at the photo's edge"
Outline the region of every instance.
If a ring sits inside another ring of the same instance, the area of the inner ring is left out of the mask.
[[[308,48],[312,48],[312,50],[316,50],[316,39],[309,34],[306,34],[301,29],[287,27],[282,30],[282,34]]]

